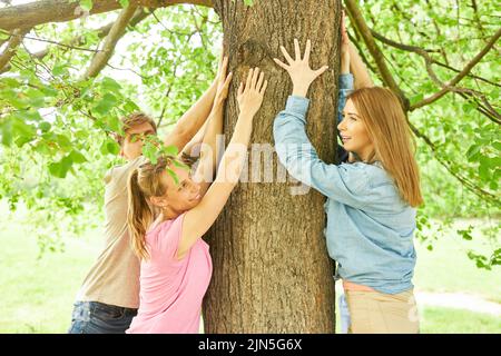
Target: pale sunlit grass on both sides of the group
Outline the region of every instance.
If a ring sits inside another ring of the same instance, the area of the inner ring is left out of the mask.
[[[99,229],[67,239],[63,254],[47,253],[40,260],[36,238],[20,226],[4,225],[0,244],[0,333],[66,333],[75,295],[99,253]],[[480,239],[468,244],[466,248],[481,247]],[[478,294],[499,301],[499,268],[478,269],[462,241],[451,236],[435,243],[433,251],[420,244],[416,248],[416,289]],[[428,306],[420,313],[422,333],[501,332],[501,318],[490,315]]]

